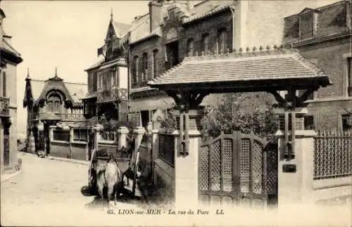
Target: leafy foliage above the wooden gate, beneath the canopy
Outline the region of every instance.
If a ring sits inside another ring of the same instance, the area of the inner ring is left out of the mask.
[[[221,131],[241,131],[271,141],[277,131],[274,100],[264,93],[227,93],[217,107],[208,107],[202,120],[203,133],[215,137]]]

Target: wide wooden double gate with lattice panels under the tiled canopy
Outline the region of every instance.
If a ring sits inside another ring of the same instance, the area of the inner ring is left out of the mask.
[[[269,195],[277,191],[277,155],[265,145],[257,136],[239,131],[203,143],[199,153],[200,201],[208,205],[268,205]]]

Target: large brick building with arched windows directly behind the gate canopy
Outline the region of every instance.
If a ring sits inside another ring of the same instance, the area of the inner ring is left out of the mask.
[[[137,16],[129,32],[130,111],[142,124],[156,108],[172,108],[174,100],[147,83],[182,62],[187,55],[225,53],[229,49],[282,44],[284,17],[319,1],[162,1],[149,2],[149,13]],[[192,72],[189,72],[192,73]],[[201,75],[194,75],[201,77]],[[203,105],[217,104],[221,94]]]

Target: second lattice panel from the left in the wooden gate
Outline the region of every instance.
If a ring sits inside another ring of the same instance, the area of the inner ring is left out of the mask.
[[[210,160],[210,190],[220,190],[220,140],[216,141],[211,147],[212,159]]]

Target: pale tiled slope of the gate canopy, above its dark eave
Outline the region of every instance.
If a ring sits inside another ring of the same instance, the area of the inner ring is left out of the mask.
[[[196,76],[195,76],[196,75]],[[225,53],[187,57],[176,67],[156,77],[149,85],[160,87],[192,84],[227,84],[317,79],[327,75],[294,50]],[[324,86],[330,84],[325,82]],[[268,85],[268,84],[267,84]],[[264,86],[264,84],[263,84]]]

